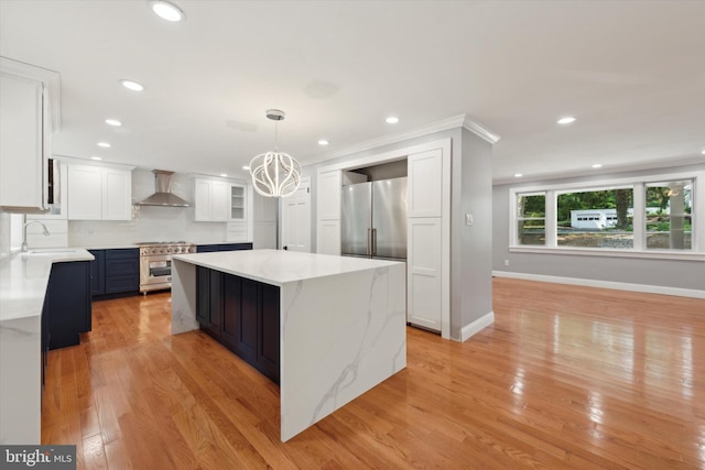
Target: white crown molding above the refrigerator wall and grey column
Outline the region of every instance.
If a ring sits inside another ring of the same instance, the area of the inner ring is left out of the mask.
[[[355,153],[367,152],[369,150],[379,149],[380,146],[390,145],[393,143],[403,142],[403,141],[408,141],[415,138],[422,138],[435,132],[443,132],[443,131],[447,131],[456,128],[467,129],[468,131],[473,132],[474,134],[478,135],[479,138],[492,144],[497,143],[500,139],[498,134],[488,130],[484,125],[475,121],[471,121],[467,114],[459,114],[459,116],[454,116],[451,118],[443,119],[441,121],[432,122],[431,124],[424,125],[422,128],[416,128],[408,132],[384,135],[378,139],[360,142],[356,145],[349,146],[339,152],[325,155],[321,159],[306,161],[305,166],[314,165],[314,164],[337,159],[340,156],[349,156]],[[416,151],[414,150],[412,153],[416,153]],[[328,170],[333,170],[333,167],[329,167]]]

